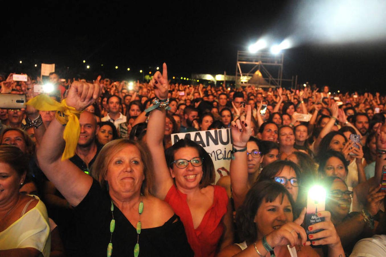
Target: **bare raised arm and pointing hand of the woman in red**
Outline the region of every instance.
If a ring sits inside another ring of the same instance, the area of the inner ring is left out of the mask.
[[[166,63],[163,64],[162,75],[157,71],[150,85],[154,87],[154,93],[157,98],[164,100],[168,98],[168,70]],[[164,200],[169,189],[173,185],[173,178],[170,175],[168,164],[165,158],[165,149],[163,138],[165,131],[166,110],[152,110],[147,122],[146,144],[149,147],[153,159],[153,194],[161,200]]]

